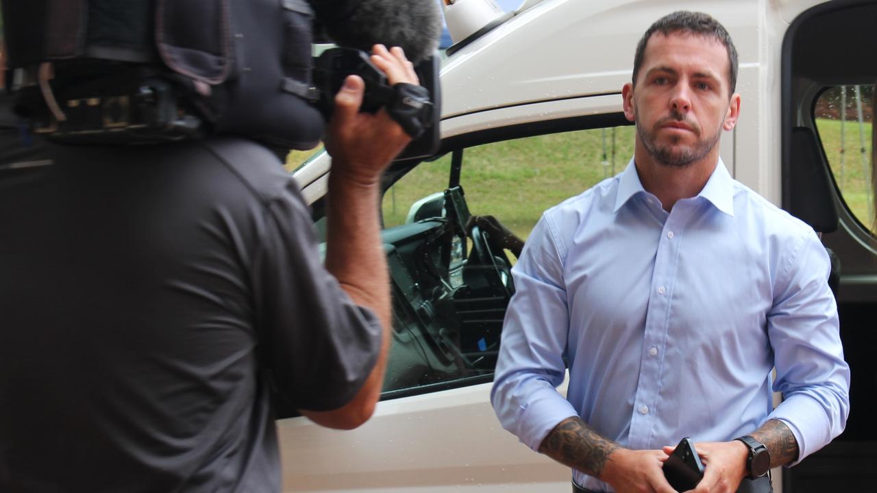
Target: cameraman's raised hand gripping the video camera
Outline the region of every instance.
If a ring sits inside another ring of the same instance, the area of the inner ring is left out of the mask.
[[[414,66],[398,46],[388,51],[375,45],[371,61],[387,75],[390,85],[418,83]],[[335,96],[326,150],[332,156],[332,175],[346,175],[360,184],[373,185],[411,138],[382,108],[374,114],[360,113],[364,90],[365,82],[359,76],[346,78]]]

